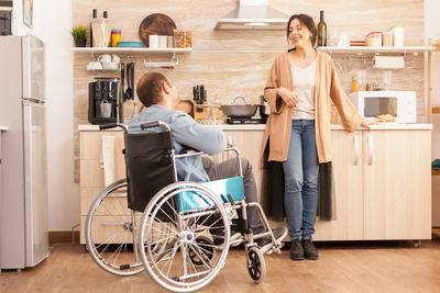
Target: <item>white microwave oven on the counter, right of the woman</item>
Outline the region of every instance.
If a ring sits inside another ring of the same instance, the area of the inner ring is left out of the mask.
[[[358,91],[349,94],[350,101],[366,121],[391,114],[397,123],[417,122],[415,91]]]

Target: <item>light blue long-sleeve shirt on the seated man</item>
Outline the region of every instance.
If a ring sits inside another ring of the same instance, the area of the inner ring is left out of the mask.
[[[201,150],[208,155],[216,155],[227,147],[224,133],[210,125],[201,125],[191,116],[182,112],[168,110],[162,105],[151,105],[139,113],[129,123],[129,133],[145,131],[162,132],[162,127],[142,131],[141,124],[153,121],[163,121],[172,128],[173,148],[180,154],[185,147]],[[178,180],[206,182],[209,177],[205,171],[199,156],[176,159]]]

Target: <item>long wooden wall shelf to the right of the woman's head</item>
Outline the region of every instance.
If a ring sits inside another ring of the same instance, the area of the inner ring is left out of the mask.
[[[381,54],[381,53],[426,53],[435,50],[435,46],[408,46],[408,47],[318,47],[319,50],[330,54]]]

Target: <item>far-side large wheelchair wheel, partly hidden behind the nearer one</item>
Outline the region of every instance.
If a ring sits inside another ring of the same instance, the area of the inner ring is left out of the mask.
[[[125,179],[108,185],[91,204],[86,222],[87,250],[99,267],[118,275],[143,270],[136,249],[142,213],[127,207],[127,188]]]

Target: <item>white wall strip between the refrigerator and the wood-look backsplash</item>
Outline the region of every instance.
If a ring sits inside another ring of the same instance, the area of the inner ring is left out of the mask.
[[[13,1],[12,30],[46,45],[48,228],[79,223],[79,187],[74,182],[72,0],[34,0],[33,27],[23,23],[23,0]]]

